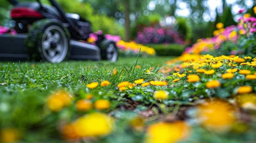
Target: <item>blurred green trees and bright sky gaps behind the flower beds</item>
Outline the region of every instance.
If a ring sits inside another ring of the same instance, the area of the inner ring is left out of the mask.
[[[33,1],[33,0],[20,0]],[[35,0],[34,0],[35,1]],[[41,0],[47,3],[47,0]],[[236,13],[245,9],[255,16],[254,0],[57,0],[69,13],[88,19],[93,31],[120,35],[125,41],[136,38],[139,26],[172,25],[188,44],[211,37],[218,22],[236,24]],[[8,0],[0,3],[0,25],[9,26]],[[129,16],[128,20],[125,19]],[[193,36],[192,36],[193,35]]]

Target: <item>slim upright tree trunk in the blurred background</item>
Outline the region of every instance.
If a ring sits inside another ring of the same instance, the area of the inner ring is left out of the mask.
[[[125,0],[125,41],[130,40],[130,0]]]

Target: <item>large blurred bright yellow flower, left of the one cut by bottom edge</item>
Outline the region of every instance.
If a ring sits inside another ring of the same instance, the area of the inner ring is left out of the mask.
[[[107,135],[113,127],[114,119],[99,112],[87,114],[74,122],[74,130],[79,137]]]

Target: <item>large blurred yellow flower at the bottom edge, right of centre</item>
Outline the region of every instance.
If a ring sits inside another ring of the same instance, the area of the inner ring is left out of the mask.
[[[146,143],[174,143],[189,135],[189,126],[184,121],[159,122],[148,126]]]

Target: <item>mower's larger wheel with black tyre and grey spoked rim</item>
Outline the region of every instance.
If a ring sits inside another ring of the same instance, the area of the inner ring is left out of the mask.
[[[26,39],[29,59],[60,63],[70,53],[69,33],[57,20],[34,22]]]

